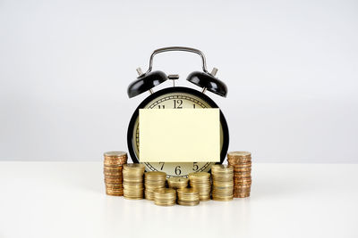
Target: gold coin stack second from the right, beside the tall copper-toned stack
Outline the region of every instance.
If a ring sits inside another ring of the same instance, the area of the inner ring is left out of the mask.
[[[234,168],[230,165],[213,165],[212,198],[216,201],[230,201],[234,198]]]

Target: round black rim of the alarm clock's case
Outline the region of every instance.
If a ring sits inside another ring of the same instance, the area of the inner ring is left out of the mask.
[[[226,119],[224,117],[223,112],[221,111],[221,109],[217,106],[217,103],[215,103],[211,98],[209,98],[208,95],[201,93],[200,91],[194,90],[190,87],[184,87],[184,86],[173,86],[173,87],[167,87],[164,89],[159,90],[158,92],[155,92],[153,94],[150,94],[147,98],[145,98],[140,104],[139,106],[135,109],[135,111],[132,114],[132,118],[129,122],[128,125],[128,130],[127,130],[127,146],[128,146],[128,151],[130,153],[131,159],[133,161],[133,163],[139,163],[139,160],[134,152],[133,146],[134,144],[132,144],[132,139],[133,139],[133,129],[134,129],[134,123],[135,120],[139,117],[139,111],[140,109],[143,109],[145,105],[147,105],[150,101],[152,101],[153,99],[155,99],[156,97],[163,95],[163,94],[168,94],[168,93],[187,93],[187,94],[193,94],[197,97],[200,97],[200,99],[204,100],[206,103],[209,103],[209,105],[212,108],[218,108],[220,111],[220,124],[221,127],[223,129],[223,147],[221,149],[220,152],[220,162],[217,162],[217,164],[222,164],[226,158],[226,153],[229,147],[229,130],[227,127],[227,123],[226,123]]]

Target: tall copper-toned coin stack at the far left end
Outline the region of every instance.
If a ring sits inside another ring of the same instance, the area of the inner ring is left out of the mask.
[[[127,163],[126,152],[104,153],[104,174],[107,195],[123,196],[123,165]]]

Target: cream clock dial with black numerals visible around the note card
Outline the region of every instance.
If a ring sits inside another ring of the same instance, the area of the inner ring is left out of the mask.
[[[200,97],[188,93],[167,93],[158,95],[157,98],[147,103],[144,108],[147,109],[183,109],[183,108],[211,108],[209,103],[203,101]],[[139,155],[139,119],[137,118],[133,127],[132,144],[136,155]],[[223,145],[223,129],[220,131],[220,143]],[[158,143],[159,144],[159,143]],[[160,150],[160,144],[158,146]],[[147,171],[163,171],[167,176],[188,176],[192,172],[208,172],[213,162],[145,162]]]

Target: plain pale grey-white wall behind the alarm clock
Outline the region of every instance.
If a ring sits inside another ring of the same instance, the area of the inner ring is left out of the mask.
[[[206,53],[229,93],[229,150],[260,162],[358,162],[356,1],[0,0],[0,160],[127,150],[127,86],[159,47]],[[154,69],[184,79],[192,53]],[[164,86],[171,86],[166,82]],[[158,90],[158,89],[155,89]]]

